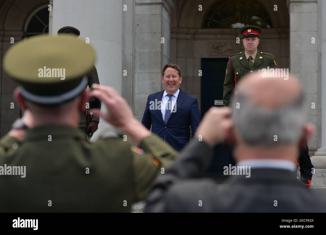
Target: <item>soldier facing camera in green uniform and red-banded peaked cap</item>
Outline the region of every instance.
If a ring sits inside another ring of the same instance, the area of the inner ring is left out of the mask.
[[[223,86],[224,106],[230,106],[231,95],[236,92],[237,83],[245,74],[268,66],[276,68],[275,57],[257,49],[259,36],[263,32],[261,28],[248,25],[239,29],[239,32],[243,36],[244,50],[229,57]]]

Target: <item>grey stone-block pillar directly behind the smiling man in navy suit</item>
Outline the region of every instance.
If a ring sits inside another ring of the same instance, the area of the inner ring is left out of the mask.
[[[147,96],[163,90],[162,68],[170,61],[170,12],[173,7],[171,0],[136,0],[133,108],[139,120],[144,114]]]

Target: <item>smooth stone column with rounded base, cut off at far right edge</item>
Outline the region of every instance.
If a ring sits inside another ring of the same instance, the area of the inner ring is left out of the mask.
[[[319,1],[319,19],[320,22],[319,31],[320,31],[320,47],[321,47],[321,146],[314,156],[311,157],[311,162],[315,167],[315,175],[312,180],[312,187],[326,187],[326,2]]]

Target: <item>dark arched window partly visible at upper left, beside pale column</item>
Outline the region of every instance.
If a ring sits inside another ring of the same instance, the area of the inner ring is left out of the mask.
[[[27,18],[24,32],[26,37],[49,33],[49,10],[48,5],[35,9]]]

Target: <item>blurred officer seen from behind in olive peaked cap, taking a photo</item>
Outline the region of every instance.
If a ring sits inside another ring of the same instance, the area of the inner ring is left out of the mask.
[[[7,50],[4,69],[18,82],[14,96],[30,113],[0,140],[0,212],[129,212],[177,155],[113,88],[86,89],[84,75],[94,60],[89,44],[64,35],[31,37]],[[108,110],[93,114],[126,138],[86,140],[78,119],[89,97]]]

